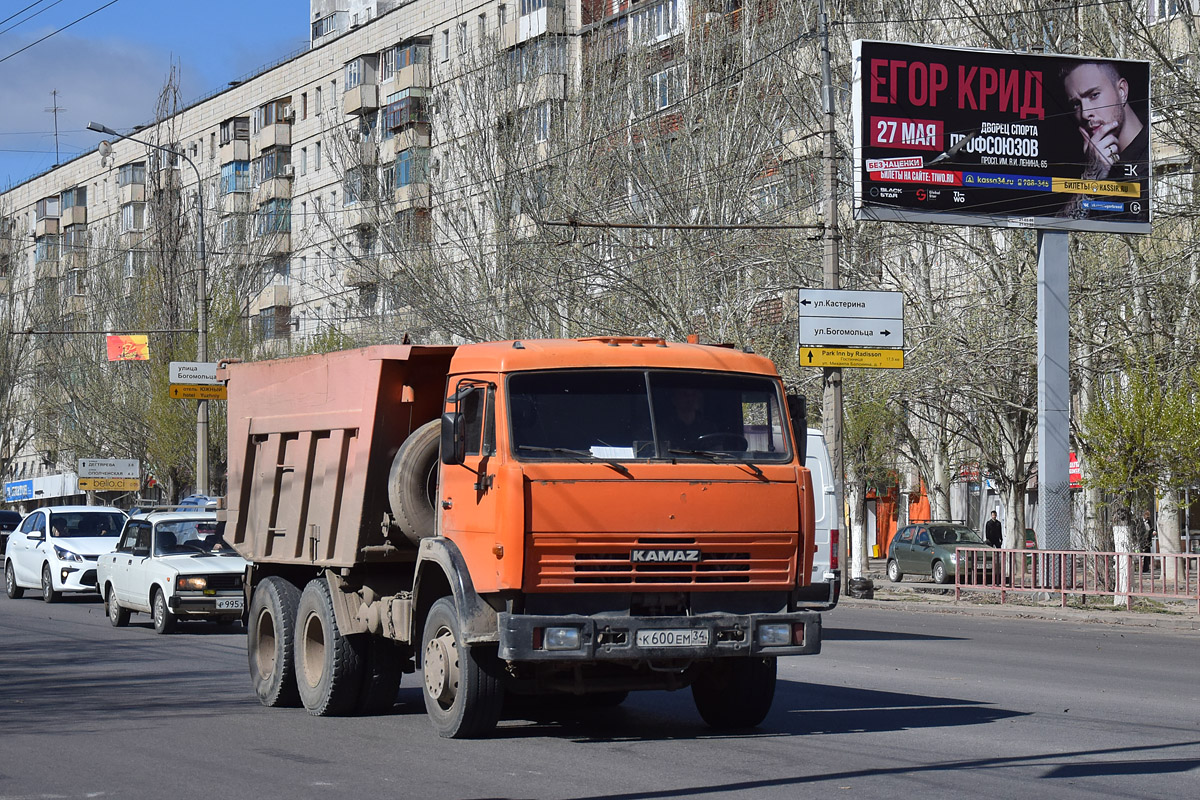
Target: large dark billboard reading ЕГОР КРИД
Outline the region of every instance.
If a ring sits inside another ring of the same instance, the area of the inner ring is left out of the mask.
[[[854,218],[1150,233],[1150,64],[854,42]]]

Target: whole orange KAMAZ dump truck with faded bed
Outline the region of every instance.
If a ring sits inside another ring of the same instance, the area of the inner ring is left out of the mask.
[[[226,539],[265,705],[390,708],[443,736],[506,693],[691,687],[757,724],[821,649],[803,398],[730,348],[596,337],[232,363]],[[790,414],[791,409],[791,414]],[[800,435],[796,435],[800,431]],[[536,702],[536,700],[532,700]]]

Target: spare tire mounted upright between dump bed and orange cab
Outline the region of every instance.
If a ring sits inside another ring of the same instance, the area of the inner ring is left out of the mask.
[[[419,545],[437,528],[438,445],[442,421],[426,422],[396,451],[388,473],[388,501],[396,527]]]

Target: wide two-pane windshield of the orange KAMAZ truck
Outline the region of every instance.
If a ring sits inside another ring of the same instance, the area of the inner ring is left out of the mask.
[[[791,458],[779,385],[762,375],[563,369],[509,377],[522,461]]]

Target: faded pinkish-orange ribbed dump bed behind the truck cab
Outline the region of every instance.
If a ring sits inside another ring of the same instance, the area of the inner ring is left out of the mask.
[[[224,513],[234,549],[257,563],[329,567],[394,557],[380,547],[388,471],[400,444],[442,413],[454,351],[378,345],[229,365]]]

